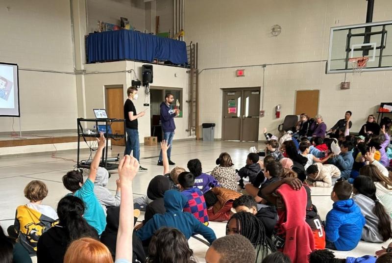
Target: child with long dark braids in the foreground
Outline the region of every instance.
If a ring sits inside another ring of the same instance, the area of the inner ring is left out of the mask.
[[[266,235],[264,225],[252,213],[233,214],[227,222],[226,235],[233,234],[240,234],[249,239],[256,251],[256,263],[261,263],[267,255],[276,251],[276,247]]]

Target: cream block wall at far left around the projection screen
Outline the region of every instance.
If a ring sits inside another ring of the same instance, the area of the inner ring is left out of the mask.
[[[0,24],[0,61],[20,67],[22,130],[75,129],[70,1],[2,0]],[[12,118],[0,117],[0,132],[19,130],[18,118],[14,121],[12,128]]]

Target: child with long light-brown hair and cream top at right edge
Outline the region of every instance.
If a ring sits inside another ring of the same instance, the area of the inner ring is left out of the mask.
[[[374,164],[365,165],[359,170],[360,175],[368,176],[376,186],[376,197],[392,217],[392,181],[384,176]]]

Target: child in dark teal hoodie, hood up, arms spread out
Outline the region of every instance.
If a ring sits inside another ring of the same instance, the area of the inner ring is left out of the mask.
[[[176,190],[165,192],[164,203],[166,212],[164,214],[154,214],[136,235],[142,240],[147,240],[161,227],[174,227],[189,239],[194,233],[200,234],[211,244],[217,237],[214,231],[200,223],[193,214],[183,212],[187,199]]]

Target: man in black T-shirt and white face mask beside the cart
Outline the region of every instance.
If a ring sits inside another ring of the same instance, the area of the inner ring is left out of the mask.
[[[142,111],[136,114],[136,108],[133,104],[133,100],[138,99],[138,89],[135,87],[129,87],[126,90],[128,99],[124,103],[124,119],[125,119],[125,130],[126,130],[126,143],[124,155],[132,155],[139,161],[140,158],[140,143],[139,143],[139,132],[138,132],[138,118],[143,117],[145,112]],[[139,171],[145,172],[146,168],[139,167]]]

